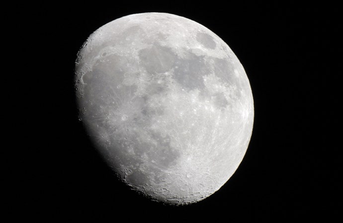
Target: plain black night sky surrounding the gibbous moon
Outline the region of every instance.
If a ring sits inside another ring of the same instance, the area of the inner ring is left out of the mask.
[[[21,120],[31,127],[25,128],[27,140],[15,158],[20,174],[12,174],[18,187],[11,195],[14,206],[8,205],[13,217],[35,222],[342,220],[342,128],[335,127],[342,116],[341,6],[93,3],[13,7],[21,23],[12,28],[21,30],[17,38],[26,44],[20,52],[30,57],[25,65],[33,76],[23,102],[30,115]],[[100,26],[141,12],[168,12],[206,26],[229,45],[250,80],[255,122],[245,158],[219,191],[196,204],[165,206],[130,191],[102,162],[78,121],[73,74],[79,49]]]

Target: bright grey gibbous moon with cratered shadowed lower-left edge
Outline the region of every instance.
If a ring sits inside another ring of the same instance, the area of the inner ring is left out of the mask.
[[[131,14],[92,33],[78,53],[80,120],[118,178],[151,200],[205,199],[234,174],[253,130],[247,74],[203,25]]]

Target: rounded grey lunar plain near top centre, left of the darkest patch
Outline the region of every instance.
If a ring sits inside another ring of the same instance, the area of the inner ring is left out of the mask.
[[[170,48],[153,45],[139,51],[142,65],[149,73],[164,73],[171,69],[176,56]]]

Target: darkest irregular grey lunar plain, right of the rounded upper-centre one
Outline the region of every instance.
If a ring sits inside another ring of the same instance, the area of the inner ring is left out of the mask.
[[[203,75],[210,73],[210,67],[206,64],[204,56],[196,56],[188,53],[186,58],[175,61],[174,78],[186,90],[205,88]]]

